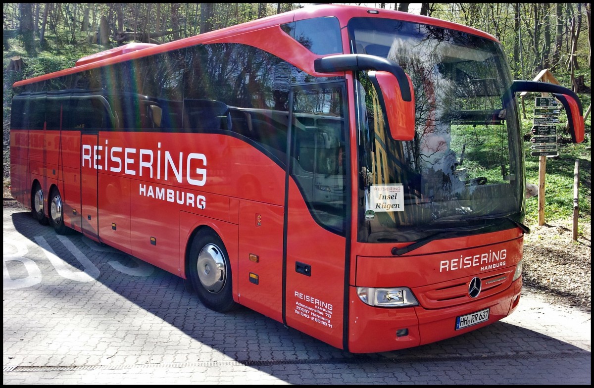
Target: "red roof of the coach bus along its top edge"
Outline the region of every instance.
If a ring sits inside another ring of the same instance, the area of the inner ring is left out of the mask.
[[[235,26],[225,27],[224,29],[209,31],[207,33],[198,34],[196,36],[187,37],[184,39],[174,40],[172,42],[163,43],[162,45],[155,45],[151,43],[128,43],[124,46],[98,52],[89,56],[84,56],[79,59],[74,67],[67,68],[56,72],[51,72],[38,77],[29,78],[27,80],[17,81],[13,87],[23,86],[50,78],[61,77],[63,75],[72,74],[79,71],[89,70],[91,68],[103,67],[106,65],[116,64],[118,62],[128,61],[129,59],[141,58],[143,56],[156,55],[162,52],[168,52],[179,48],[194,46],[205,43],[249,43],[246,39],[241,39],[244,34],[252,33],[254,31],[280,26],[281,24],[290,23],[292,21],[304,20],[314,17],[336,17],[339,20],[340,27],[347,25],[350,18],[353,17],[378,17],[385,18],[389,15],[390,18],[397,20],[406,20],[412,23],[429,24],[431,26],[438,26],[447,29],[462,31],[465,33],[485,37],[486,39],[494,40],[494,36],[485,33],[484,31],[474,29],[472,27],[463,26],[462,24],[452,23],[450,21],[441,20],[422,15],[410,14],[408,12],[384,10],[381,8],[360,7],[357,5],[340,5],[340,4],[320,4],[309,7],[299,8],[298,10],[283,12],[282,14],[271,15],[257,20],[248,21],[246,23],[237,24]],[[287,36],[288,37],[288,36]],[[257,46],[252,43],[252,45]],[[262,49],[266,49],[261,47]],[[311,53],[308,59],[315,59],[321,56]],[[286,59],[286,58],[283,58]],[[313,61],[311,61],[313,62]],[[308,70],[308,69],[304,69]]]

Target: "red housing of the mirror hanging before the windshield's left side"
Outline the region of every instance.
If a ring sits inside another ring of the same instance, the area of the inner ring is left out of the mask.
[[[368,76],[378,90],[378,94],[383,97],[382,106],[386,111],[391,137],[394,140],[413,140],[415,137],[415,93],[408,74],[406,74],[406,80],[409,84],[410,101],[403,99],[400,84],[391,72],[369,71]]]

